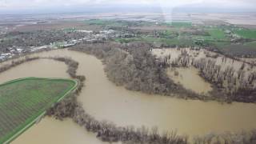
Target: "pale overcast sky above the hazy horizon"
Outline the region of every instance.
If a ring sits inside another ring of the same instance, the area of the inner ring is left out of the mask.
[[[177,7],[205,7],[229,10],[253,10],[256,11],[256,0],[0,0],[2,10],[30,10],[91,6],[159,6],[162,9],[174,9]]]

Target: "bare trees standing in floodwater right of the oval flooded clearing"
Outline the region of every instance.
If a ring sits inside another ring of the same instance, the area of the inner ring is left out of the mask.
[[[168,58],[165,61],[168,62]],[[225,64],[226,58],[222,58],[222,62]],[[216,64],[214,58],[195,59],[186,51],[182,51],[182,54],[171,64],[172,66],[196,67],[202,78],[213,84],[212,95],[215,99],[226,102],[256,102],[256,72],[246,70],[245,63],[242,64],[240,70],[234,70],[233,66],[222,68]]]

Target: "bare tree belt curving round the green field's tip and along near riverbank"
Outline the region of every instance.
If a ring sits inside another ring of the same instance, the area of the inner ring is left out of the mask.
[[[84,76],[76,75],[78,69],[78,62],[70,58],[53,58],[54,60],[65,62],[69,67],[66,71],[73,78],[81,78]],[[71,72],[70,72],[71,71]],[[82,79],[84,82],[85,77]],[[81,87],[82,88],[82,87]],[[82,108],[82,105],[77,101],[76,93],[70,94],[69,97],[58,102],[55,106],[47,110],[49,116],[62,120],[63,118],[72,118],[79,126],[83,126],[86,130],[96,133],[97,137],[103,142],[130,142],[130,143],[177,143],[186,144],[187,138],[185,136],[178,136],[175,132],[159,134],[157,128],[152,130],[142,126],[142,128],[134,129],[134,126],[118,127],[111,122],[99,122]]]

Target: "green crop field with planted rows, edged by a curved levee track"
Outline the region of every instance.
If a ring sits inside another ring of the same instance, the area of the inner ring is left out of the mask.
[[[0,143],[22,134],[76,86],[61,78],[22,78],[0,85]]]

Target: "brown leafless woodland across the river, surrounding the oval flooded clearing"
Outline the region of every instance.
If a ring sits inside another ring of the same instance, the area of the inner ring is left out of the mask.
[[[152,46],[134,42],[129,45],[118,43],[82,44],[70,50],[94,54],[106,64],[105,71],[110,81],[128,90],[142,91],[147,94],[178,95],[179,98],[201,100],[218,100],[221,102],[255,102],[255,72],[251,70],[234,70],[233,67],[222,67],[215,64],[214,58],[195,59],[182,50],[182,54],[170,61],[170,56],[159,60],[150,50]],[[215,57],[215,56],[213,56]],[[218,57],[218,55],[217,55]],[[222,62],[225,58],[222,59]],[[210,97],[186,90],[182,85],[173,82],[166,74],[168,66],[194,66],[200,75],[210,82],[214,90]]]

